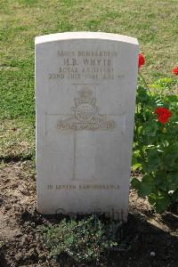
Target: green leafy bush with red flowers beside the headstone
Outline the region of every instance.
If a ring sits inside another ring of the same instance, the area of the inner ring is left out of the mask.
[[[140,73],[137,88],[133,170],[142,179],[133,178],[132,186],[158,213],[178,203],[178,95],[165,93],[173,85],[174,78],[162,78],[148,86]]]

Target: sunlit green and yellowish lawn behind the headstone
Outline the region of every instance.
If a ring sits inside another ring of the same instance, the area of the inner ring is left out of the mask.
[[[177,14],[177,0],[1,0],[0,157],[35,155],[35,36],[84,30],[137,37],[150,82],[170,77],[177,64]]]

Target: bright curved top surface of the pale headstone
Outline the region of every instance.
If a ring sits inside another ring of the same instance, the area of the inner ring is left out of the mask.
[[[72,39],[100,39],[100,40],[111,40],[119,41],[129,44],[138,44],[138,40],[130,36],[122,36],[112,33],[105,32],[89,32],[89,31],[78,31],[78,32],[63,32],[46,36],[36,36],[36,44],[55,42],[61,40],[72,40]]]

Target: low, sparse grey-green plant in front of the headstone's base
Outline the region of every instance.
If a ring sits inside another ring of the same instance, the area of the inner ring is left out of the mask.
[[[101,223],[92,215],[78,222],[76,219],[63,219],[55,225],[43,225],[38,231],[42,233],[50,257],[65,253],[77,262],[98,262],[101,253],[117,246],[119,225]]]

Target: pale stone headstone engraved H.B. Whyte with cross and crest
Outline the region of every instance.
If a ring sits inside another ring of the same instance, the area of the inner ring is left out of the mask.
[[[36,37],[39,213],[126,221],[138,50],[117,34]]]

